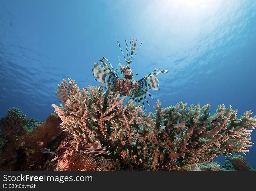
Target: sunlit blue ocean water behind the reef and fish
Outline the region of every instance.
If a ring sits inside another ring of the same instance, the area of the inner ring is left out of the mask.
[[[99,86],[94,62],[125,63],[116,43],[125,50],[125,37],[143,42],[131,65],[136,79],[169,70],[158,75],[161,91],[150,91],[150,104],[210,103],[211,114],[225,104],[238,117],[255,115],[255,13],[256,2],[243,0],[1,0],[0,116],[14,106],[47,119],[63,79]],[[256,142],[256,130],[251,137]],[[256,145],[245,157],[256,167]]]

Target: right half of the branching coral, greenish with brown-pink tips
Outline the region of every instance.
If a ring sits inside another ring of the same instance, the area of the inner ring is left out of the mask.
[[[210,161],[223,153],[248,152],[245,149],[253,144],[250,129],[256,125],[256,119],[249,117],[252,112],[237,119],[237,110],[219,105],[210,116],[209,107],[187,107],[180,102],[162,109],[157,101],[157,113],[150,114],[153,128],[143,141],[144,147],[152,146],[147,152],[153,156],[153,169],[177,169],[187,163]]]

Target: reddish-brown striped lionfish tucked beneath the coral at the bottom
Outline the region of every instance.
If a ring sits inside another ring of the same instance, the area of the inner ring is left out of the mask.
[[[56,157],[44,164],[57,160],[56,170],[115,170],[117,164],[112,159],[99,159],[96,156],[110,155],[109,147],[104,147],[99,141],[88,142],[90,136],[81,134],[76,146],[70,146],[68,141],[62,141],[56,152],[42,148],[41,152],[55,155]]]

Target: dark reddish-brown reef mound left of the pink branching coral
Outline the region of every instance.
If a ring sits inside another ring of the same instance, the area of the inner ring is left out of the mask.
[[[21,111],[11,108],[7,116],[1,118],[0,123],[1,139],[6,140],[0,151],[0,170],[55,169],[56,163],[43,167],[49,156],[42,155],[40,148],[57,149],[61,141],[69,136],[61,131],[61,119],[56,114],[51,114],[46,121],[37,123],[33,119],[26,119]]]

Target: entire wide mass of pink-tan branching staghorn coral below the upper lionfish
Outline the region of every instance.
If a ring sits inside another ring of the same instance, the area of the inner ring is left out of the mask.
[[[128,170],[175,170],[186,164],[210,162],[220,154],[246,153],[256,119],[251,111],[237,119],[237,110],[219,105],[213,115],[210,104],[187,107],[154,107],[146,115],[126,97],[103,93],[103,86],[80,89],[72,79],[63,80],[56,91],[61,106],[52,104],[62,119],[64,131],[77,141],[81,133],[92,133],[112,153],[108,158]]]

